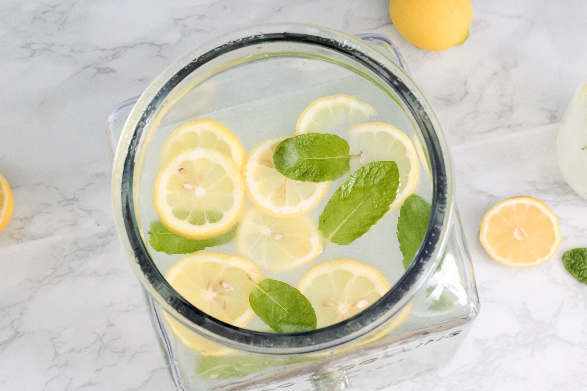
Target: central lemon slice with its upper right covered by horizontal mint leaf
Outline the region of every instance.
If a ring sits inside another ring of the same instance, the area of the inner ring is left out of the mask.
[[[276,217],[303,215],[315,208],[330,185],[330,182],[294,181],[275,169],[275,147],[288,137],[291,136],[271,138],[253,148],[245,159],[242,172],[252,202]]]

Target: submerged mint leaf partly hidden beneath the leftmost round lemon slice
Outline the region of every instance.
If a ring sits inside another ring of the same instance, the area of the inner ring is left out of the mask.
[[[220,246],[234,239],[237,225],[228,232],[210,239],[185,239],[168,230],[161,222],[151,223],[149,226],[149,243],[155,251],[166,254],[191,254],[204,250],[206,247]]]

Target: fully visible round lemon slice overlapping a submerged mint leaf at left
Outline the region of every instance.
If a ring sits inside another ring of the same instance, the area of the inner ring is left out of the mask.
[[[157,175],[154,204],[161,223],[189,239],[227,232],[241,216],[245,190],[237,166],[212,149],[185,149]]]

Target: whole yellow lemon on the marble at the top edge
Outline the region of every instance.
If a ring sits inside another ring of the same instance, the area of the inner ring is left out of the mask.
[[[446,50],[469,36],[471,0],[390,0],[389,16],[408,42],[427,50]]]

